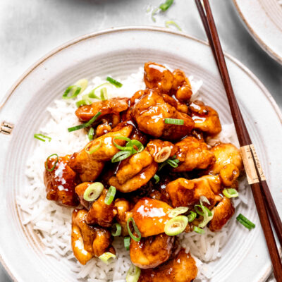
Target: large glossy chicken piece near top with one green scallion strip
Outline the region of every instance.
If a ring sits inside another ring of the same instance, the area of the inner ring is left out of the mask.
[[[166,103],[157,90],[145,90],[145,94],[133,105],[131,115],[142,132],[166,140],[178,140],[194,128],[192,118]],[[165,118],[182,119],[184,124],[167,124]]]

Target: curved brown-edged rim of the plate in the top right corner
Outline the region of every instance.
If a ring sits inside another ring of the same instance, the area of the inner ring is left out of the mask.
[[[244,25],[245,29],[247,30],[247,32],[249,32],[249,34],[252,36],[253,39],[255,39],[257,44],[259,44],[259,46],[262,47],[262,49],[266,52],[266,54],[269,54],[269,56],[271,56],[272,59],[274,59],[276,62],[282,64],[282,56],[280,56],[273,49],[271,49],[259,37],[259,35],[255,32],[255,30],[252,29],[250,23],[248,23],[247,18],[245,18],[245,16],[243,15],[243,12],[241,11],[241,9],[239,7],[238,0],[232,0],[232,2],[233,2],[233,5],[235,6],[235,8],[236,8],[236,10],[237,10],[237,12],[240,16],[240,20],[243,22],[243,25]]]

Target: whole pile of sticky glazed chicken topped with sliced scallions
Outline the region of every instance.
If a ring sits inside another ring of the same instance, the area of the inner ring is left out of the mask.
[[[144,81],[146,89],[130,99],[75,111],[81,122],[101,114],[86,128],[95,133],[80,152],[47,159],[47,199],[83,207],[73,211],[71,231],[81,264],[111,257],[114,237],[121,236],[141,269],[135,281],[191,282],[195,259],[176,236],[226,225],[235,213],[228,190],[238,196],[243,161],[231,143],[208,145],[221,132],[219,114],[191,99],[183,71],[148,62]]]

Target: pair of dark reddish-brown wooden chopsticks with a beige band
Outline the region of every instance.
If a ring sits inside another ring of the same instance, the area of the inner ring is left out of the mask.
[[[276,281],[282,282],[282,264],[278,253],[278,247],[274,238],[274,233],[271,228],[271,222],[276,231],[277,238],[282,246],[282,223],[277,212],[274,200],[271,197],[271,192],[266,183],[262,167],[259,164],[259,159],[252,145],[252,140],[247,131],[247,127],[240,112],[231,80],[228,75],[226,61],[224,59],[219,35],[216,31],[216,25],[212,16],[212,10],[209,6],[209,0],[195,0],[197,9],[200,13],[204,30],[207,33],[209,44],[214,54],[216,65],[219,68],[221,80],[226,90],[228,103],[231,109],[231,114],[235,124],[236,133],[240,143],[240,150],[243,157],[243,163],[247,174],[247,180],[252,188],[252,195],[255,199],[259,220],[264,231],[264,237],[269,249],[269,255],[274,268],[274,276]],[[203,4],[202,4],[203,3]],[[270,219],[271,221],[270,221]]]

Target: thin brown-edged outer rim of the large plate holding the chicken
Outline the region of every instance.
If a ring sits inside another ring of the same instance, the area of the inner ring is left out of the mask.
[[[235,2],[235,1],[236,0],[233,0],[233,2]],[[114,33],[114,32],[123,32],[123,31],[131,31],[131,30],[133,30],[133,31],[149,31],[149,32],[164,32],[164,33],[168,33],[168,34],[173,34],[173,35],[185,37],[187,39],[192,39],[196,42],[199,42],[200,44],[204,44],[206,46],[209,46],[209,44],[202,39],[198,39],[197,37],[185,34],[184,32],[169,30],[166,27],[153,27],[153,26],[146,26],[146,25],[134,26],[134,25],[132,25],[132,26],[125,26],[125,27],[112,27],[112,28],[102,30],[102,31],[98,31],[98,32],[90,32],[90,33],[87,33],[86,35],[75,37],[75,39],[71,39],[68,42],[59,45],[59,47],[52,49],[47,54],[42,56],[39,60],[37,60],[35,63],[33,63],[32,66],[27,68],[27,71],[25,71],[23,73],[23,75],[20,75],[20,77],[16,80],[16,82],[13,83],[13,85],[9,88],[8,92],[4,95],[4,97],[3,97],[3,99],[1,100],[1,103],[0,103],[0,112],[1,112],[1,109],[4,108],[6,102],[8,102],[8,99],[10,99],[10,97],[16,91],[16,89],[18,88],[20,83],[22,83],[23,80],[25,80],[25,78],[27,78],[27,76],[30,75],[30,73],[32,73],[32,71],[35,71],[35,69],[37,67],[39,67],[42,63],[44,63],[44,61],[47,61],[49,58],[51,58],[51,56],[56,55],[60,51],[63,51],[63,49],[71,47],[74,44],[77,44],[79,42],[82,42],[84,40],[87,40],[87,39],[90,39],[90,38],[93,38],[93,37],[98,37],[100,35],[106,35],[106,34]],[[259,86],[259,88],[262,90],[262,93],[264,94],[264,96],[269,100],[271,106],[273,107],[274,111],[276,112],[276,115],[278,116],[278,118],[279,118],[279,120],[282,124],[282,112],[279,109],[278,104],[276,104],[276,102],[275,102],[274,98],[271,96],[270,92],[266,89],[266,87],[262,84],[262,82],[257,78],[257,76],[254,73],[252,73],[252,71],[250,71],[249,68],[247,68],[243,63],[238,61],[238,59],[235,59],[235,57],[231,56],[230,54],[228,54],[226,52],[224,52],[224,56],[226,56],[226,58],[228,58],[231,62],[235,63],[236,66],[238,66],[242,71],[244,71],[257,84],[257,86]],[[0,263],[2,264],[3,268],[5,269],[8,276],[10,276],[12,281],[17,282],[18,280],[16,280],[16,277],[13,275],[12,271],[6,265],[4,258],[1,256],[1,254],[0,254]],[[264,274],[264,276],[262,276],[262,278],[258,282],[265,281],[265,279],[269,276],[269,274],[271,274],[271,269],[272,269],[272,267],[269,266],[269,268],[266,269],[266,273]]]

